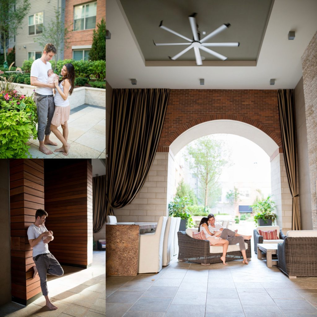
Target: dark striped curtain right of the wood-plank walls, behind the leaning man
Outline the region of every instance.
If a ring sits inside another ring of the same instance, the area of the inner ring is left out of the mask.
[[[99,232],[106,222],[106,175],[93,177],[93,230]]]

